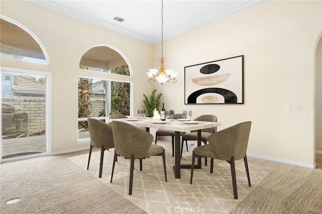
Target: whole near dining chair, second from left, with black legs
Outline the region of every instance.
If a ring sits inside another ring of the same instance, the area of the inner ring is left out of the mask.
[[[114,136],[115,152],[111,174],[111,183],[117,156],[130,158],[131,164],[129,195],[131,195],[133,186],[134,160],[140,159],[140,171],[142,171],[142,159],[154,155],[162,155],[167,182],[165,149],[162,146],[152,144],[153,136],[150,133],[122,121],[113,121],[112,130]]]

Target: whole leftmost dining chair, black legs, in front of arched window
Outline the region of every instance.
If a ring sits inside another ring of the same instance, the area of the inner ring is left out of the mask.
[[[90,138],[91,138],[90,154],[89,154],[87,169],[89,169],[89,166],[90,166],[93,147],[101,148],[101,161],[100,161],[100,174],[99,174],[99,177],[101,178],[102,171],[103,171],[104,151],[114,147],[112,126],[94,118],[87,119],[87,122],[89,125]]]

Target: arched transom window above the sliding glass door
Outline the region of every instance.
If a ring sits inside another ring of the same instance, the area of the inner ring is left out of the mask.
[[[0,19],[0,57],[47,64],[44,48],[28,29],[14,21]]]

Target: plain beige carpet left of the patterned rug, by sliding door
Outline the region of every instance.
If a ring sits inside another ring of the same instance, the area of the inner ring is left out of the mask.
[[[145,213],[63,156],[2,163],[0,170],[2,214]]]

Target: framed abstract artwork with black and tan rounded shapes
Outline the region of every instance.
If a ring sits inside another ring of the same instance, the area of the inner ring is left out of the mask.
[[[185,104],[243,104],[244,55],[185,67]]]

